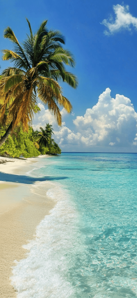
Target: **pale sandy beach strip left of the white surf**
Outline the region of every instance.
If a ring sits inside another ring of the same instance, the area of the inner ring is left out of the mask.
[[[35,235],[36,226],[49,214],[55,202],[46,196],[48,183],[44,187],[31,191],[37,179],[25,175],[34,168],[37,158],[8,159],[0,164],[0,297],[15,298],[17,293],[10,284],[14,260],[25,257],[27,244]],[[47,156],[47,158],[50,158]],[[44,181],[41,179],[40,181]],[[34,187],[33,187],[34,188]]]

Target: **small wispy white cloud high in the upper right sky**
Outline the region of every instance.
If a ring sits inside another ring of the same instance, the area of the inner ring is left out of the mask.
[[[109,19],[105,19],[102,21],[102,24],[108,28],[108,31],[105,30],[105,35],[113,34],[114,32],[118,32],[121,29],[126,29],[131,31],[131,28],[134,27],[137,29],[137,18],[133,17],[129,13],[129,6],[122,5],[113,5],[113,10],[115,12],[115,20],[111,16]]]

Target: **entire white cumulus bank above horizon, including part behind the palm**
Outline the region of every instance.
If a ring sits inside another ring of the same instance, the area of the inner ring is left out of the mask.
[[[39,129],[40,126],[44,128],[46,123],[52,124],[55,142],[65,151],[91,151],[96,146],[98,148],[101,148],[100,146],[102,148],[135,147],[137,113],[133,104],[124,95],[116,94],[116,98],[112,98],[110,92],[111,90],[107,88],[100,94],[93,108],[88,108],[84,116],[77,116],[73,120],[73,130],[66,126],[65,121],[62,127],[58,127],[54,117],[42,104],[39,104],[41,112],[37,117],[35,116],[32,127]],[[64,119],[66,111],[63,109],[61,114]]]

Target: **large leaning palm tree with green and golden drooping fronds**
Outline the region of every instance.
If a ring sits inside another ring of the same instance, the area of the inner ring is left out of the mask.
[[[21,124],[24,130],[28,130],[35,113],[37,95],[60,126],[62,119],[58,105],[68,113],[72,110],[59,85],[63,81],[73,88],[77,87],[76,76],[65,69],[65,64],[74,67],[75,62],[71,52],[61,45],[65,44],[63,35],[60,31],[48,30],[47,20],[33,34],[28,19],[27,22],[30,35],[22,45],[10,27],[4,30],[4,38],[13,42],[14,51],[2,51],[3,60],[10,60],[13,67],[5,69],[0,77],[0,122],[2,125],[10,124],[0,140],[0,146],[16,126]]]

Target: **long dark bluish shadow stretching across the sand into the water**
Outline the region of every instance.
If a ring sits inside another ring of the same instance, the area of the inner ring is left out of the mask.
[[[53,181],[53,180],[61,180],[67,179],[68,177],[30,177],[24,175],[14,175],[14,174],[6,174],[0,172],[0,180],[6,182],[17,182],[17,183],[25,183],[25,184],[34,184],[36,181]]]

